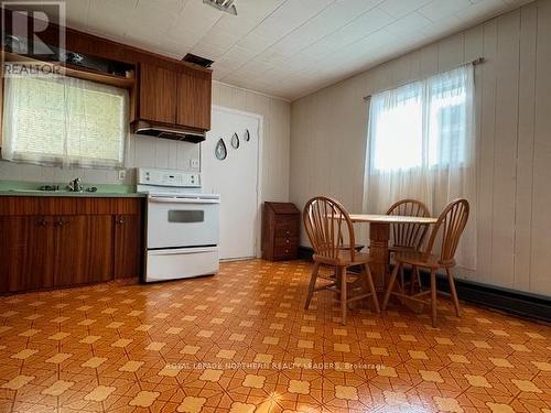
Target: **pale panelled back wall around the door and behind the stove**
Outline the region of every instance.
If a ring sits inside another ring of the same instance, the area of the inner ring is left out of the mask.
[[[266,200],[289,200],[291,105],[282,99],[219,83],[213,83],[213,105],[263,116],[262,195]],[[111,170],[62,170],[4,161],[0,161],[0,180],[57,183],[80,176],[85,183],[131,185],[136,180],[133,167],[166,167],[195,172],[190,161],[199,157],[199,145],[195,143],[131,135],[127,148],[129,170],[123,182],[118,180],[118,172]]]

